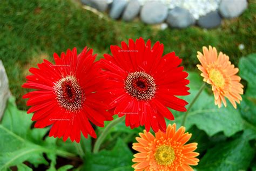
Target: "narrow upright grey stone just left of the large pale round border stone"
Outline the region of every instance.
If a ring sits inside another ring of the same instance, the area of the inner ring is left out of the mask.
[[[123,13],[123,20],[129,22],[138,16],[140,4],[138,0],[130,0]]]

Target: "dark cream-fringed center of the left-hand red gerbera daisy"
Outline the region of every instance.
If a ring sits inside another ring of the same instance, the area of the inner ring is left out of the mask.
[[[75,76],[60,79],[53,87],[58,104],[71,112],[78,112],[83,107],[85,95]]]

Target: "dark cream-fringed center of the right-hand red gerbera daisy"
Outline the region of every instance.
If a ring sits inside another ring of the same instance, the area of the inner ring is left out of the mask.
[[[138,100],[149,100],[156,93],[154,78],[143,71],[130,73],[124,84],[127,93]]]

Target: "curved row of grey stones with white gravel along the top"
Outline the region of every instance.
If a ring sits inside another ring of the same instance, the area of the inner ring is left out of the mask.
[[[172,28],[216,28],[222,18],[235,18],[248,6],[246,0],[80,0],[101,12],[109,13],[112,19],[130,22],[139,17],[146,24],[166,22]],[[189,2],[189,3],[186,3]],[[193,2],[192,2],[193,1]],[[177,3],[178,2],[178,3]],[[192,2],[192,3],[191,3]],[[199,5],[192,8],[193,4]],[[192,13],[197,11],[197,13]],[[166,28],[163,26],[161,28]]]

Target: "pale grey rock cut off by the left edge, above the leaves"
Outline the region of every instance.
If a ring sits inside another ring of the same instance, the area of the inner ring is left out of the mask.
[[[0,120],[3,117],[6,101],[10,97],[8,77],[6,75],[2,60],[0,60]]]

